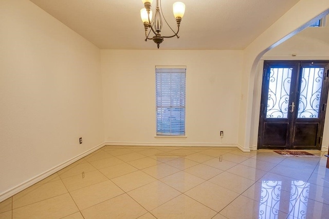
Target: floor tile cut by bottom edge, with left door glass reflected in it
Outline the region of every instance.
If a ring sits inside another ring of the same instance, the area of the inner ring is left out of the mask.
[[[237,210],[239,209],[239,210]],[[273,210],[270,207],[261,205],[259,202],[251,200],[245,196],[237,197],[232,203],[221,212],[227,218],[287,218],[288,214]]]

